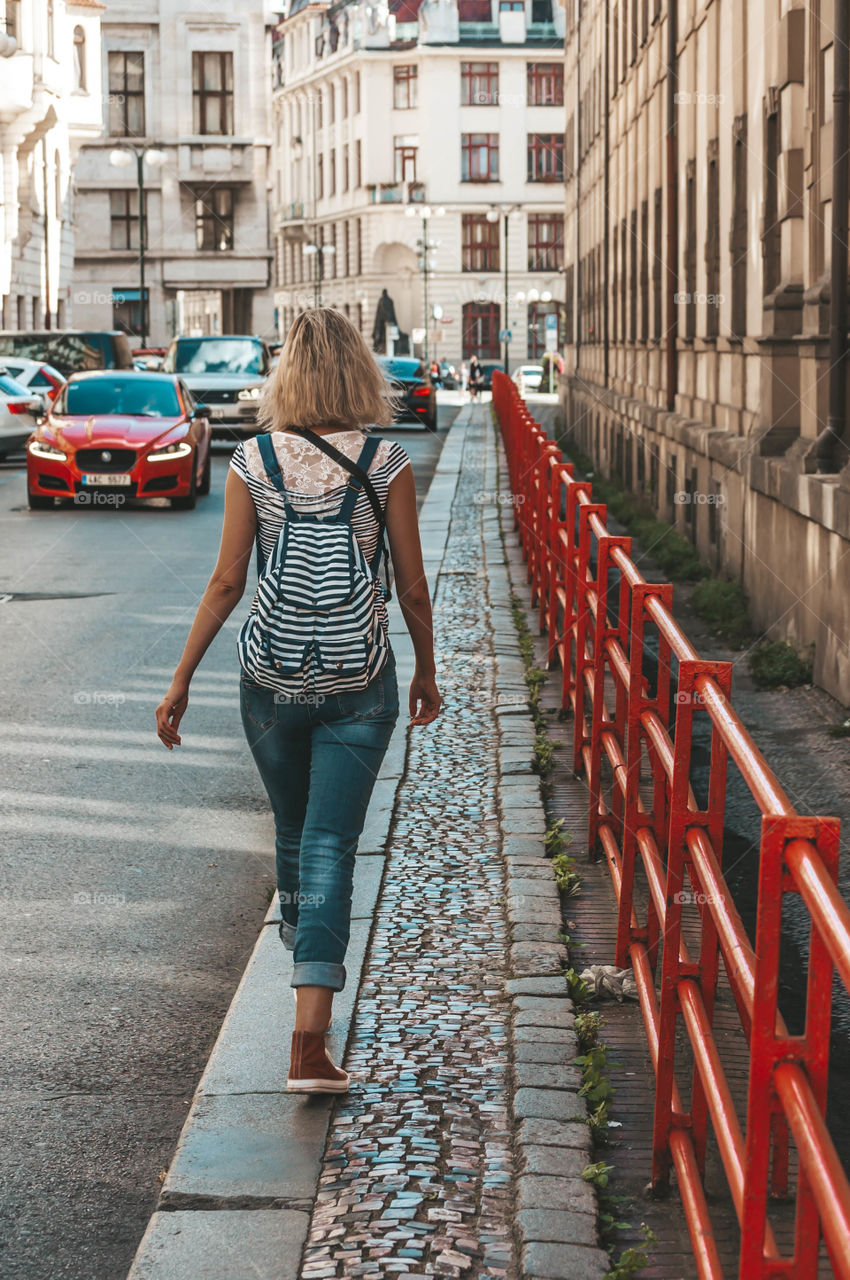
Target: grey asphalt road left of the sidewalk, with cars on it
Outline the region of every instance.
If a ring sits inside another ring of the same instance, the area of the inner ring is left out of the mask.
[[[420,497],[456,412],[437,435],[384,433]],[[0,463],[3,1280],[125,1274],[273,891],[238,713],[245,608],[193,681],[183,748],[154,733],[228,456],[193,512],[29,512],[20,461]]]

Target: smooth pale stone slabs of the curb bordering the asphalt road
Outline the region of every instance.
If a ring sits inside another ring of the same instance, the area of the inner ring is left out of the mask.
[[[452,424],[420,512],[425,570],[437,590],[471,406]],[[390,611],[399,686],[413,671],[407,631]],[[343,1061],[384,873],[384,850],[407,758],[399,717],[357,846],[346,988],[329,1047]],[[291,959],[269,908],[183,1125],[128,1280],[297,1280],[333,1098],[285,1092],[294,1001]]]

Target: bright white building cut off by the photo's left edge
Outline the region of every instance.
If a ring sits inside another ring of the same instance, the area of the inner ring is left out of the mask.
[[[0,326],[61,328],[78,225],[73,173],[102,120],[99,0],[0,10]]]

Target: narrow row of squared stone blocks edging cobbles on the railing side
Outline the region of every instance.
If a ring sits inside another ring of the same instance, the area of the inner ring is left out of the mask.
[[[498,470],[497,470],[498,458]],[[484,485],[504,489],[501,442],[488,454]],[[506,490],[507,492],[507,490]],[[506,913],[511,929],[507,992],[512,997],[511,1044],[518,1156],[517,1239],[526,1280],[600,1280],[611,1268],[597,1230],[597,1193],[581,1179],[590,1162],[588,1108],[579,1094],[575,1010],[563,970],[568,956],[558,942],[561,896],[545,855],[545,810],[533,772],[534,722],[525,667],[509,609],[515,584],[504,541],[516,543],[507,504],[484,512],[484,557],[492,617],[501,626],[495,652],[499,698],[499,799]],[[508,707],[507,699],[513,699]],[[521,705],[524,699],[524,705]],[[521,714],[525,710],[525,714]]]

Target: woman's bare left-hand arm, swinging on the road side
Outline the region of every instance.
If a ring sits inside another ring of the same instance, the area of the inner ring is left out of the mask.
[[[178,727],[188,705],[189,681],[201,658],[242,599],[253,552],[257,516],[247,484],[228,471],[219,558],[165,698],[156,708],[156,733],[169,751],[180,745]]]

